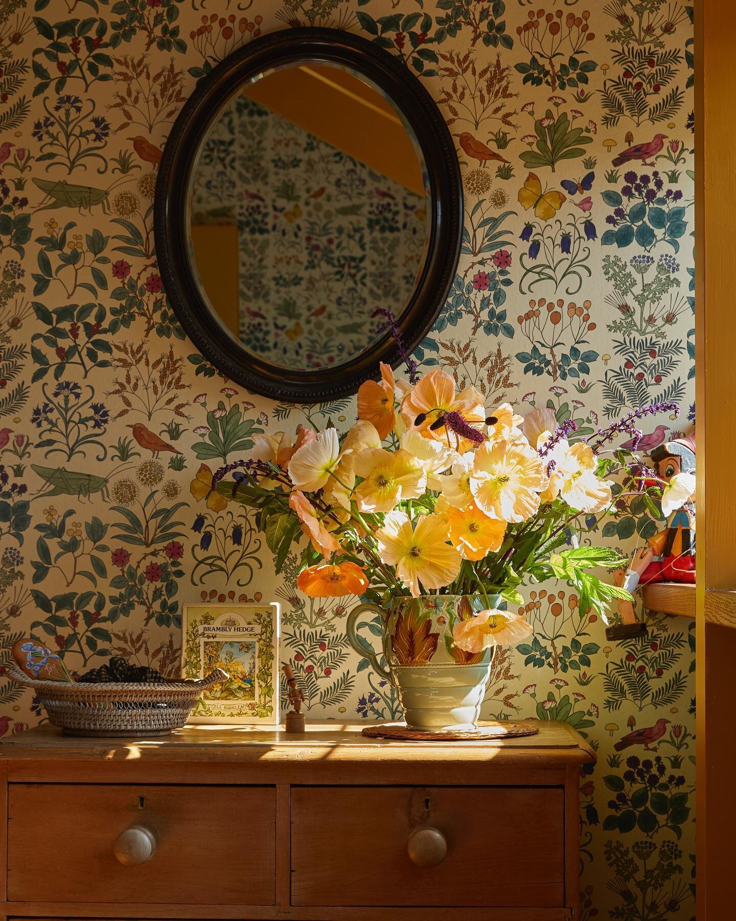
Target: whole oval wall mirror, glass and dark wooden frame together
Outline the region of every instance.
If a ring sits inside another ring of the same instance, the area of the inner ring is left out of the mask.
[[[293,402],[357,391],[419,344],[460,247],[452,137],[374,44],[290,29],[201,79],[159,169],[167,296],[202,355]]]

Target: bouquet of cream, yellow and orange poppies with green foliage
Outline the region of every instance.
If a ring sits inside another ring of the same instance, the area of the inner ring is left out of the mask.
[[[454,628],[470,652],[531,633],[496,606],[499,597],[523,604],[523,582],[569,582],[581,616],[630,599],[591,571],[627,560],[581,537],[622,489],[661,496],[636,455],[612,443],[626,435],[636,446],[637,420],[676,406],[652,404],[575,440],[575,423],[558,423],[551,409],[489,410],[479,391],[457,392],[443,370],[419,378],[409,359],[408,372],[395,379],[382,365],[380,381],[363,383],[358,420],[344,435],[330,425],[299,426],[294,441],[258,437],[251,457],[214,475],[202,467],[192,492],[213,509],[229,501],[255,509],[277,573],[300,544],[297,585],[306,595],[383,605],[402,595],[480,596],[485,610]],[[624,486],[612,482],[616,473]]]

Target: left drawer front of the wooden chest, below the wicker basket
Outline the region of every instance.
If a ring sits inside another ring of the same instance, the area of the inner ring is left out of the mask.
[[[275,823],[273,787],[11,784],[7,897],[274,904]]]

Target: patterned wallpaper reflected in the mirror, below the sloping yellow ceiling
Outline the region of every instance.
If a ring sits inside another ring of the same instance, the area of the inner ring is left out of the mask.
[[[243,96],[202,149],[192,206],[236,224],[240,340],[282,367],[349,362],[420,270],[423,197]]]

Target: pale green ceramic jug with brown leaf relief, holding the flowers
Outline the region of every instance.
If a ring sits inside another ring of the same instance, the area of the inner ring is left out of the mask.
[[[351,647],[397,688],[409,729],[476,729],[493,648],[479,653],[460,649],[453,627],[499,600],[498,595],[399,596],[387,608],[369,602],[350,612],[346,631]],[[383,656],[359,635],[375,614],[381,619]]]

